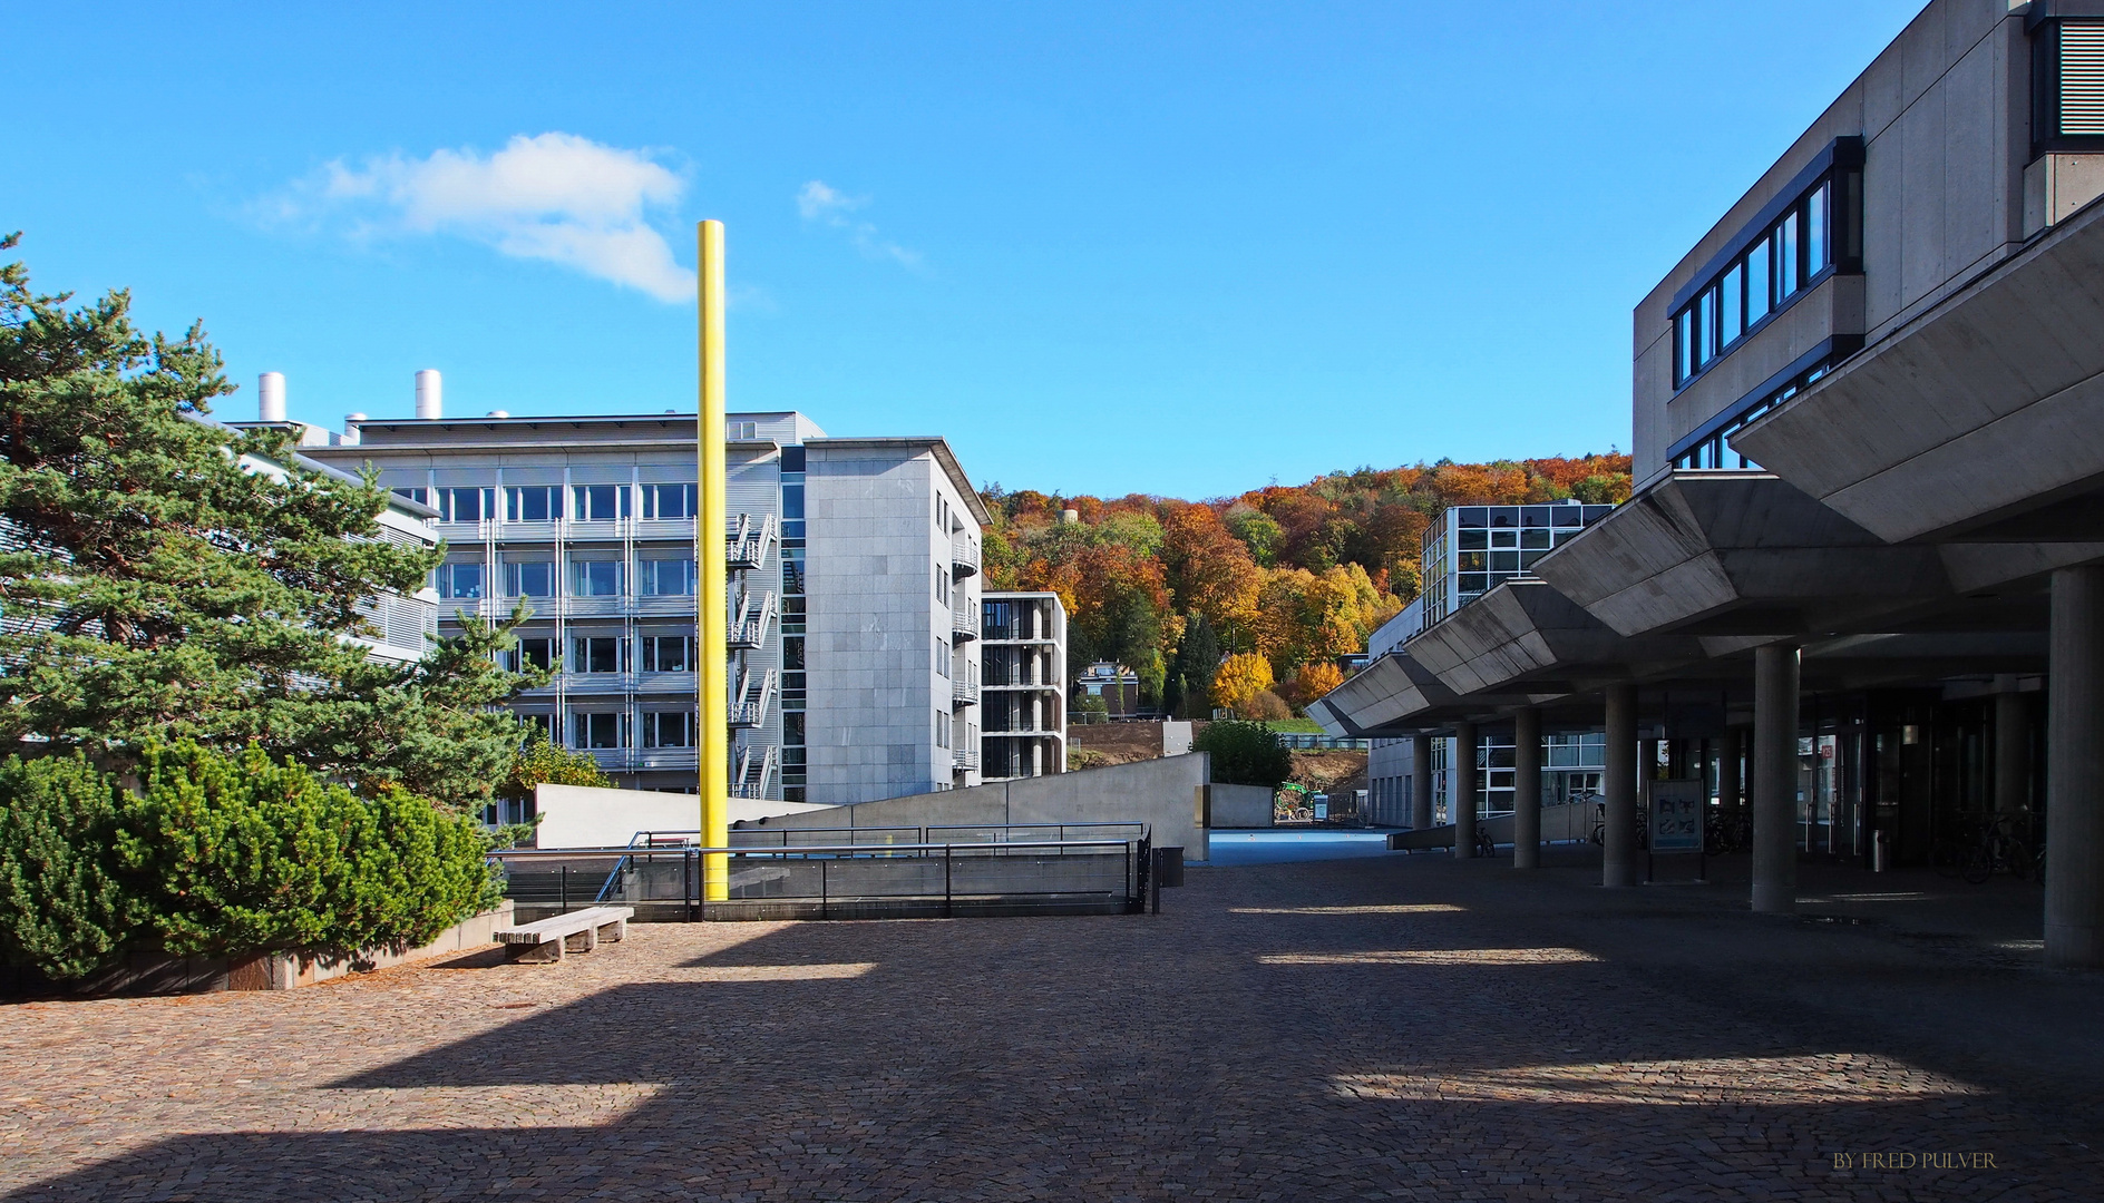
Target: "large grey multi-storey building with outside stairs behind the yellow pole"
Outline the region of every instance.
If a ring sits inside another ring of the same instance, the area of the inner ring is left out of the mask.
[[[526,606],[515,709],[629,789],[696,789],[696,431],[688,414],[356,414],[307,454],[436,509],[440,629]],[[932,437],[728,416],[732,791],[854,803],[978,782],[985,511]]]

